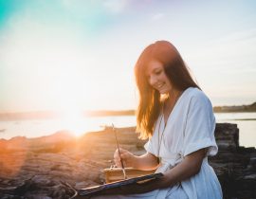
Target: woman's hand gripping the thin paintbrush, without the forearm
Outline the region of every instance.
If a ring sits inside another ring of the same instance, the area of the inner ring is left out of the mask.
[[[120,152],[120,156],[119,156]],[[124,149],[117,149],[114,153],[114,161],[117,167],[121,168],[121,161],[123,162],[123,167],[134,167],[136,162],[136,156],[134,154],[131,154],[127,150]]]

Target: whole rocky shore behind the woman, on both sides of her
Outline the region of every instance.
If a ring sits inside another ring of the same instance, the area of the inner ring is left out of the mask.
[[[118,129],[119,145],[143,154],[135,128]],[[256,150],[239,146],[236,124],[218,123],[219,153],[210,157],[225,199],[256,199]],[[111,128],[79,138],[68,132],[39,138],[0,139],[0,198],[69,198],[73,191],[104,182],[102,170],[116,149]]]

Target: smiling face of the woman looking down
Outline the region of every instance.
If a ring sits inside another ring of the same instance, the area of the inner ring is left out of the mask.
[[[151,61],[146,68],[146,76],[148,82],[160,94],[170,93],[173,89],[172,83],[165,74],[164,66],[158,61]]]

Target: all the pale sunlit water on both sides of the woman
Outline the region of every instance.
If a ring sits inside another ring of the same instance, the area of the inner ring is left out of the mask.
[[[240,131],[240,145],[256,147],[256,113],[218,113],[215,118],[220,123],[236,123]],[[136,118],[119,116],[0,121],[0,138],[47,136],[61,130],[80,136],[86,132],[102,130],[104,125],[112,123],[116,127],[135,126]]]

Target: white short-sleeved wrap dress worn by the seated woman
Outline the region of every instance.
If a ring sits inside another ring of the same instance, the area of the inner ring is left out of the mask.
[[[186,89],[177,100],[164,128],[163,115],[155,122],[155,131],[145,144],[148,153],[160,156],[156,172],[167,172],[183,157],[203,148],[208,155],[217,154],[214,138],[215,118],[210,99],[197,88]],[[93,198],[167,198],[167,199],[221,199],[222,190],[215,172],[205,157],[200,172],[177,185],[142,194],[111,195]]]

